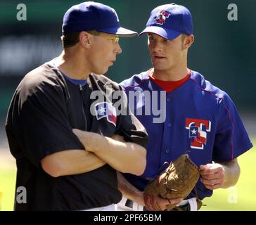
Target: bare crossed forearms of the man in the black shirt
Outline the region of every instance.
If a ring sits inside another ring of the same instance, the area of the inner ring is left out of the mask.
[[[141,175],[146,167],[146,149],[87,131],[73,130],[86,150],[64,150],[41,160],[41,167],[53,177],[82,174],[106,163],[120,172]],[[131,167],[132,165],[132,167]]]

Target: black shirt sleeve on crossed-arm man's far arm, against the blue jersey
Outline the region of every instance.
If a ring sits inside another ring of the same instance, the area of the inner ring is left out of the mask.
[[[122,91],[121,87],[120,90]],[[124,110],[122,111],[119,134],[124,137],[125,141],[134,142],[147,148],[148,134],[146,129],[130,110],[127,96],[124,91],[122,91],[122,97],[124,100]]]

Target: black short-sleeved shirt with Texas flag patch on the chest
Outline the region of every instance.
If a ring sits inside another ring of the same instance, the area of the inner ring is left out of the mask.
[[[110,93],[107,86],[112,89]],[[8,143],[18,169],[16,190],[24,186],[27,191],[27,203],[15,201],[15,210],[86,210],[121,200],[115,169],[109,165],[57,178],[41,168],[40,162],[46,155],[84,149],[72,133],[74,128],[104,136],[120,134],[126,141],[146,147],[148,136],[134,115],[117,115],[113,122],[107,116],[91,114],[96,103],[90,96],[97,90],[104,103],[113,105],[120,101],[129,112],[125,94],[116,100],[110,98],[122,88],[103,75],[89,75],[87,84],[76,85],[49,62],[32,70],[20,82],[6,120]]]

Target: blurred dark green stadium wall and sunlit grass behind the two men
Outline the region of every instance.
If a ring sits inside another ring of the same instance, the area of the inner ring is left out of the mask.
[[[13,91],[24,75],[58,56],[65,11],[82,1],[0,0],[0,207],[12,210],[15,161],[8,153],[4,120]],[[120,24],[140,32],[155,6],[170,1],[101,1],[117,11]],[[194,20],[196,41],[188,54],[188,67],[229,93],[256,144],[256,1],[177,0],[189,8]],[[27,6],[27,20],[18,21],[17,5]],[[238,6],[238,21],[229,21],[229,4]],[[151,67],[146,36],[120,39],[123,53],[107,75],[116,82]],[[215,191],[204,210],[256,210],[255,150],[241,158],[242,174],[237,186]]]

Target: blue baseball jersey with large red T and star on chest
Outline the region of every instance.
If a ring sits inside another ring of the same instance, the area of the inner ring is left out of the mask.
[[[252,148],[231,98],[198,72],[191,71],[190,78],[169,93],[155,84],[148,72],[124,80],[121,86],[127,94],[130,108],[149,136],[145,172],[141,176],[124,174],[140,191],[166,168],[165,162],[184,153],[199,166],[212,161],[233,160]],[[160,116],[155,112],[163,103],[166,105],[162,110],[165,120],[155,122],[154,119]],[[212,191],[200,181],[196,190],[201,200],[212,195]],[[188,198],[194,196],[195,193],[191,193]]]

